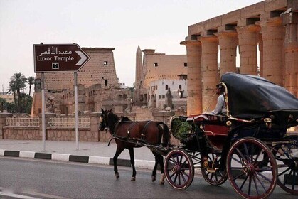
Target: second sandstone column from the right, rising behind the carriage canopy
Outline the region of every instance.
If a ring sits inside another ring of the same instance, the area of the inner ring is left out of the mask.
[[[262,28],[262,77],[283,85],[283,27],[280,18],[260,21]]]

